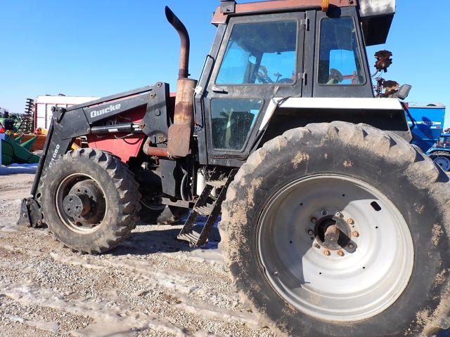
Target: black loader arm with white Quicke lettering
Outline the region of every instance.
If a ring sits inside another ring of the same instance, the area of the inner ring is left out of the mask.
[[[102,150],[113,152],[118,157],[120,149],[111,146],[115,139],[123,137],[136,139],[136,142],[128,145],[133,147],[132,151],[127,149],[128,153],[135,154],[141,151],[146,136],[153,139],[155,144],[160,143],[156,138],[167,139],[168,128],[172,122],[171,113],[167,111],[167,107],[170,106],[169,99],[169,85],[159,82],[153,86],[110,95],[69,108],[53,107],[53,119],[30,193],[32,197],[22,201],[18,223],[32,227],[40,225],[42,216],[39,211],[39,190],[42,177],[52,166],[53,161],[71,150],[75,138],[86,137],[89,140],[92,137],[110,138],[113,135],[113,139],[106,140],[110,146],[104,145],[107,148]],[[117,123],[117,117],[127,121],[131,114],[139,115],[139,111],[142,111],[141,117],[138,118],[139,123],[129,121]],[[91,144],[89,146],[91,147]],[[157,146],[163,148],[167,145],[160,143]]]

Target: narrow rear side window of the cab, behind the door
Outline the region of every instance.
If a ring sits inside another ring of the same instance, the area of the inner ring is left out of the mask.
[[[319,84],[365,83],[354,20],[350,17],[321,20]]]

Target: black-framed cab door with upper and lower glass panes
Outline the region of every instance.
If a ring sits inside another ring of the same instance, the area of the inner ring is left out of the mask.
[[[243,164],[271,100],[302,97],[304,23],[304,12],[230,19],[201,105],[207,164]]]

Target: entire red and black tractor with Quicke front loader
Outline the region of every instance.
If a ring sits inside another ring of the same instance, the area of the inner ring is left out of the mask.
[[[375,97],[365,48],[386,41],[394,12],[394,0],[222,0],[195,81],[166,8],[176,94],[158,82],[54,107],[19,223],[103,253],[143,213],[188,213],[178,239],[194,247],[221,214],[233,283],[278,335],[448,329],[449,177],[410,144],[410,87]],[[385,71],[391,54],[375,55]],[[70,150],[75,138],[88,146]]]

